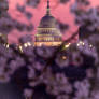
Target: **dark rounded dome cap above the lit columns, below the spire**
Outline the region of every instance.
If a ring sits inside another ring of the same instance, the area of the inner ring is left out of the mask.
[[[45,15],[41,19],[39,28],[56,28],[56,19],[51,15]]]

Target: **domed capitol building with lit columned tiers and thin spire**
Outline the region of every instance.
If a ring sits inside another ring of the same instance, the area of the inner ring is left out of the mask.
[[[47,0],[46,14],[42,17],[34,38],[34,46],[58,46],[62,42],[62,36],[57,28],[57,20],[51,15],[49,0]]]

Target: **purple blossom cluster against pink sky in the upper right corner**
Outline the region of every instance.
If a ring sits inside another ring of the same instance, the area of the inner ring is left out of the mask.
[[[76,0],[71,6],[75,15],[75,23],[84,26],[89,31],[95,31],[99,26],[99,6],[91,8],[88,0]]]

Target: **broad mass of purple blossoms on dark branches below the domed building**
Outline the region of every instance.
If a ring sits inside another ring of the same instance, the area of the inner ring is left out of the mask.
[[[12,79],[22,81],[26,98],[49,96],[51,99],[95,99],[93,97],[95,91],[98,93],[99,79],[96,71],[99,70],[96,47],[87,41],[80,41],[66,44],[58,52],[57,49],[58,47],[36,47],[32,44],[26,46],[24,42],[9,47],[0,44],[0,82],[6,83]],[[41,87],[45,95],[37,90]],[[39,93],[41,96],[37,96]]]

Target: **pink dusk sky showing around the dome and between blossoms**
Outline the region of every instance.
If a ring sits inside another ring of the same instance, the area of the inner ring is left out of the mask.
[[[27,19],[23,13],[17,11],[16,5],[25,5],[26,0],[9,0],[9,13],[12,18],[17,19],[20,23],[29,25],[32,23],[34,25],[34,29],[31,32],[19,32],[17,29],[12,30],[9,33],[9,43],[16,43],[18,38],[24,34],[34,34],[37,33],[37,27],[39,26],[40,19],[44,16],[46,12],[46,0],[41,0],[37,8],[31,8],[26,5],[26,11],[32,13],[33,17],[31,19]],[[91,5],[99,5],[99,0],[90,0]],[[51,13],[56,18],[62,23],[69,24],[70,28],[66,33],[63,33],[63,38],[69,38],[72,32],[77,30],[77,26],[74,24],[74,16],[70,12],[70,6],[73,4],[74,0],[70,0],[68,3],[62,4],[58,3],[58,0],[51,0]],[[33,37],[33,36],[32,36]]]

